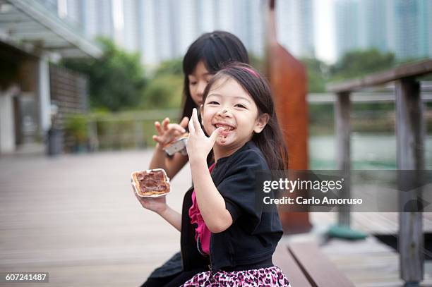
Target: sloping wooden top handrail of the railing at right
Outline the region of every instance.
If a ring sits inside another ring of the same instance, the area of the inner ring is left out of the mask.
[[[329,92],[352,92],[365,87],[382,85],[402,78],[425,75],[432,73],[432,60],[424,60],[416,63],[399,66],[391,70],[374,73],[364,78],[348,80],[344,83],[335,83],[327,86]]]

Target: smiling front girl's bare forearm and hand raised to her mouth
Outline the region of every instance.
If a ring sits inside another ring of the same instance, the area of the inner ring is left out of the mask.
[[[198,122],[196,109],[193,109],[192,118],[189,121],[187,149],[198,207],[205,225],[212,233],[222,232],[232,224],[232,216],[225,207],[224,197],[220,195],[212,181],[206,161],[220,130],[222,128],[217,128],[210,138],[205,136]]]

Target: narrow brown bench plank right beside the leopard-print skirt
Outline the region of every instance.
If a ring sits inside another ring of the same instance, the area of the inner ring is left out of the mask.
[[[291,253],[288,252],[288,246],[285,243],[280,242],[277,245],[273,254],[273,263],[282,269],[291,286],[311,286],[311,283],[309,283]]]

